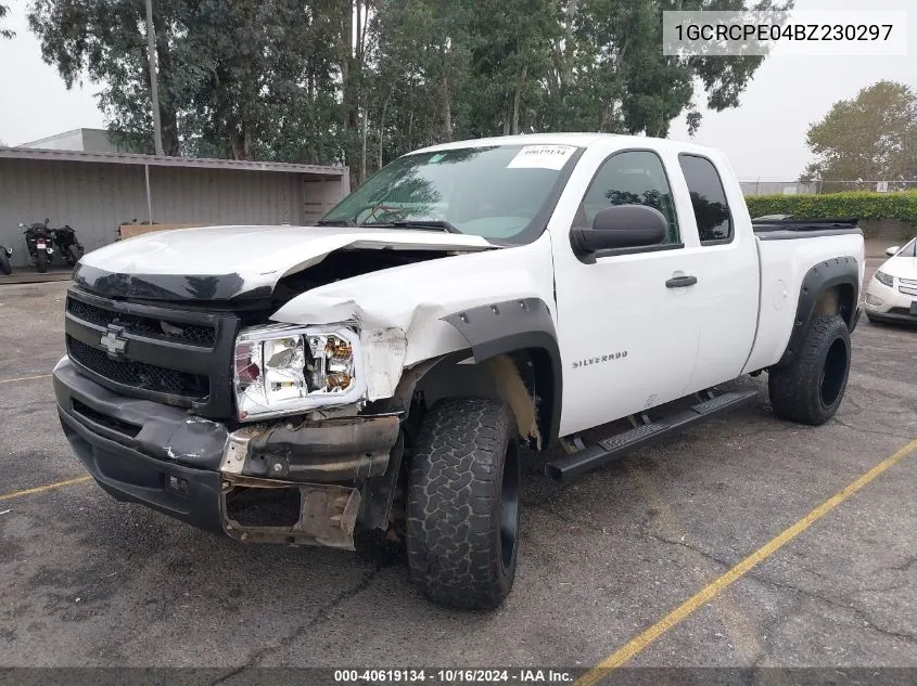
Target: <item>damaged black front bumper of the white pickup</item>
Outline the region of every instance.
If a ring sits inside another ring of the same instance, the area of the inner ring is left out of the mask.
[[[391,460],[399,445],[395,415],[234,429],[113,393],[66,358],[53,379],[67,440],[119,501],[242,541],[353,547],[357,521],[387,521],[400,461]],[[285,512],[266,505],[281,495]]]

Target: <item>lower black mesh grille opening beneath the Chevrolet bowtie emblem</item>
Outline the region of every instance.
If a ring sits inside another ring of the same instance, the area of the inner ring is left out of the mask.
[[[176,372],[135,360],[112,360],[104,350],[71,336],[67,336],[67,354],[90,372],[124,386],[199,400],[211,392],[206,376]]]

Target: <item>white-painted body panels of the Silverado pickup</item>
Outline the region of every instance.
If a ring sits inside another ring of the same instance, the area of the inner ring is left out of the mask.
[[[667,140],[601,134],[537,134],[448,143],[431,150],[509,143],[575,145],[584,152],[546,231],[527,245],[500,247],[477,236],[342,228],[211,228],[149,234],[84,258],[122,273],[239,273],[269,286],[343,247],[455,250],[445,259],[355,276],[308,290],[271,319],[291,324],[357,321],[369,399],[390,397],[405,367],[468,347],[442,318],[515,298],[547,303],[563,368],[560,435],[566,436],[761,370],[790,338],[802,279],[828,258],[853,256],[856,234],[761,241],[735,173],[722,153]],[[684,247],[600,257],[573,254],[574,213],[609,155],[649,150],[662,159]],[[725,187],[734,240],[701,245],[679,153],[714,163]],[[667,288],[675,275],[697,277]],[[577,360],[626,358],[574,368]]]

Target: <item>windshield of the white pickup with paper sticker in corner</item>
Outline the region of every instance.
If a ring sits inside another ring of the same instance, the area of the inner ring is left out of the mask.
[[[571,164],[572,145],[496,145],[407,155],[384,167],[322,223],[442,226],[511,240],[534,224]]]

